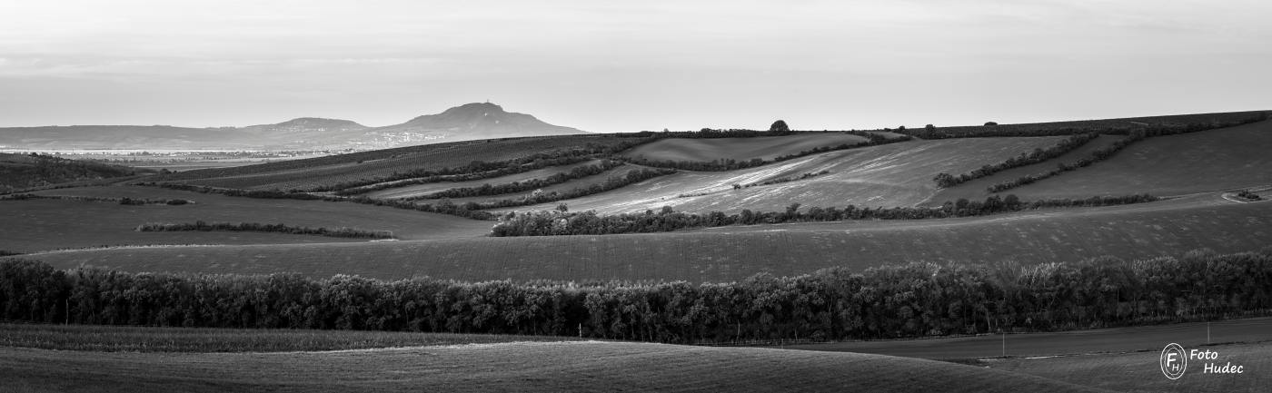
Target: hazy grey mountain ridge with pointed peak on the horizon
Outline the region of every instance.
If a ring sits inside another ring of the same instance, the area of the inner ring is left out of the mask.
[[[371,150],[478,139],[585,134],[492,103],[469,103],[384,127],[300,117],[245,127],[0,127],[0,149],[83,150]]]

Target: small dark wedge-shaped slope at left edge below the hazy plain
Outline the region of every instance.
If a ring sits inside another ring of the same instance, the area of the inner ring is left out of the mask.
[[[0,192],[141,173],[154,172],[48,155],[0,153]]]

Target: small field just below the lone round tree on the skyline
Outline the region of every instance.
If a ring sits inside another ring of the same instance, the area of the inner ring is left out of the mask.
[[[789,154],[822,146],[860,144],[865,137],[848,134],[796,134],[785,136],[720,137],[720,139],[664,139],[622,153],[622,156],[647,160],[710,162],[753,158],[771,160]]]

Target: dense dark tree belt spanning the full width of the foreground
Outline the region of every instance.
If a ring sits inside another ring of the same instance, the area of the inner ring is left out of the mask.
[[[550,334],[659,342],[1058,331],[1272,308],[1272,251],[1034,266],[907,263],[728,284],[123,273],[0,262],[0,318],[78,324]],[[103,290],[104,289],[104,290]],[[580,332],[581,329],[581,332]]]

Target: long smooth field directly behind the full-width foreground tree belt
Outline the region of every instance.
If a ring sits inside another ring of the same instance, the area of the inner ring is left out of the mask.
[[[1244,252],[1272,238],[1272,202],[1198,195],[1152,203],[983,217],[724,226],[696,231],[383,243],[99,249],[31,254],[55,267],[123,271],[300,272],[378,279],[687,280],[726,282],[908,261],[1021,263],[1147,258],[1196,248]]]

